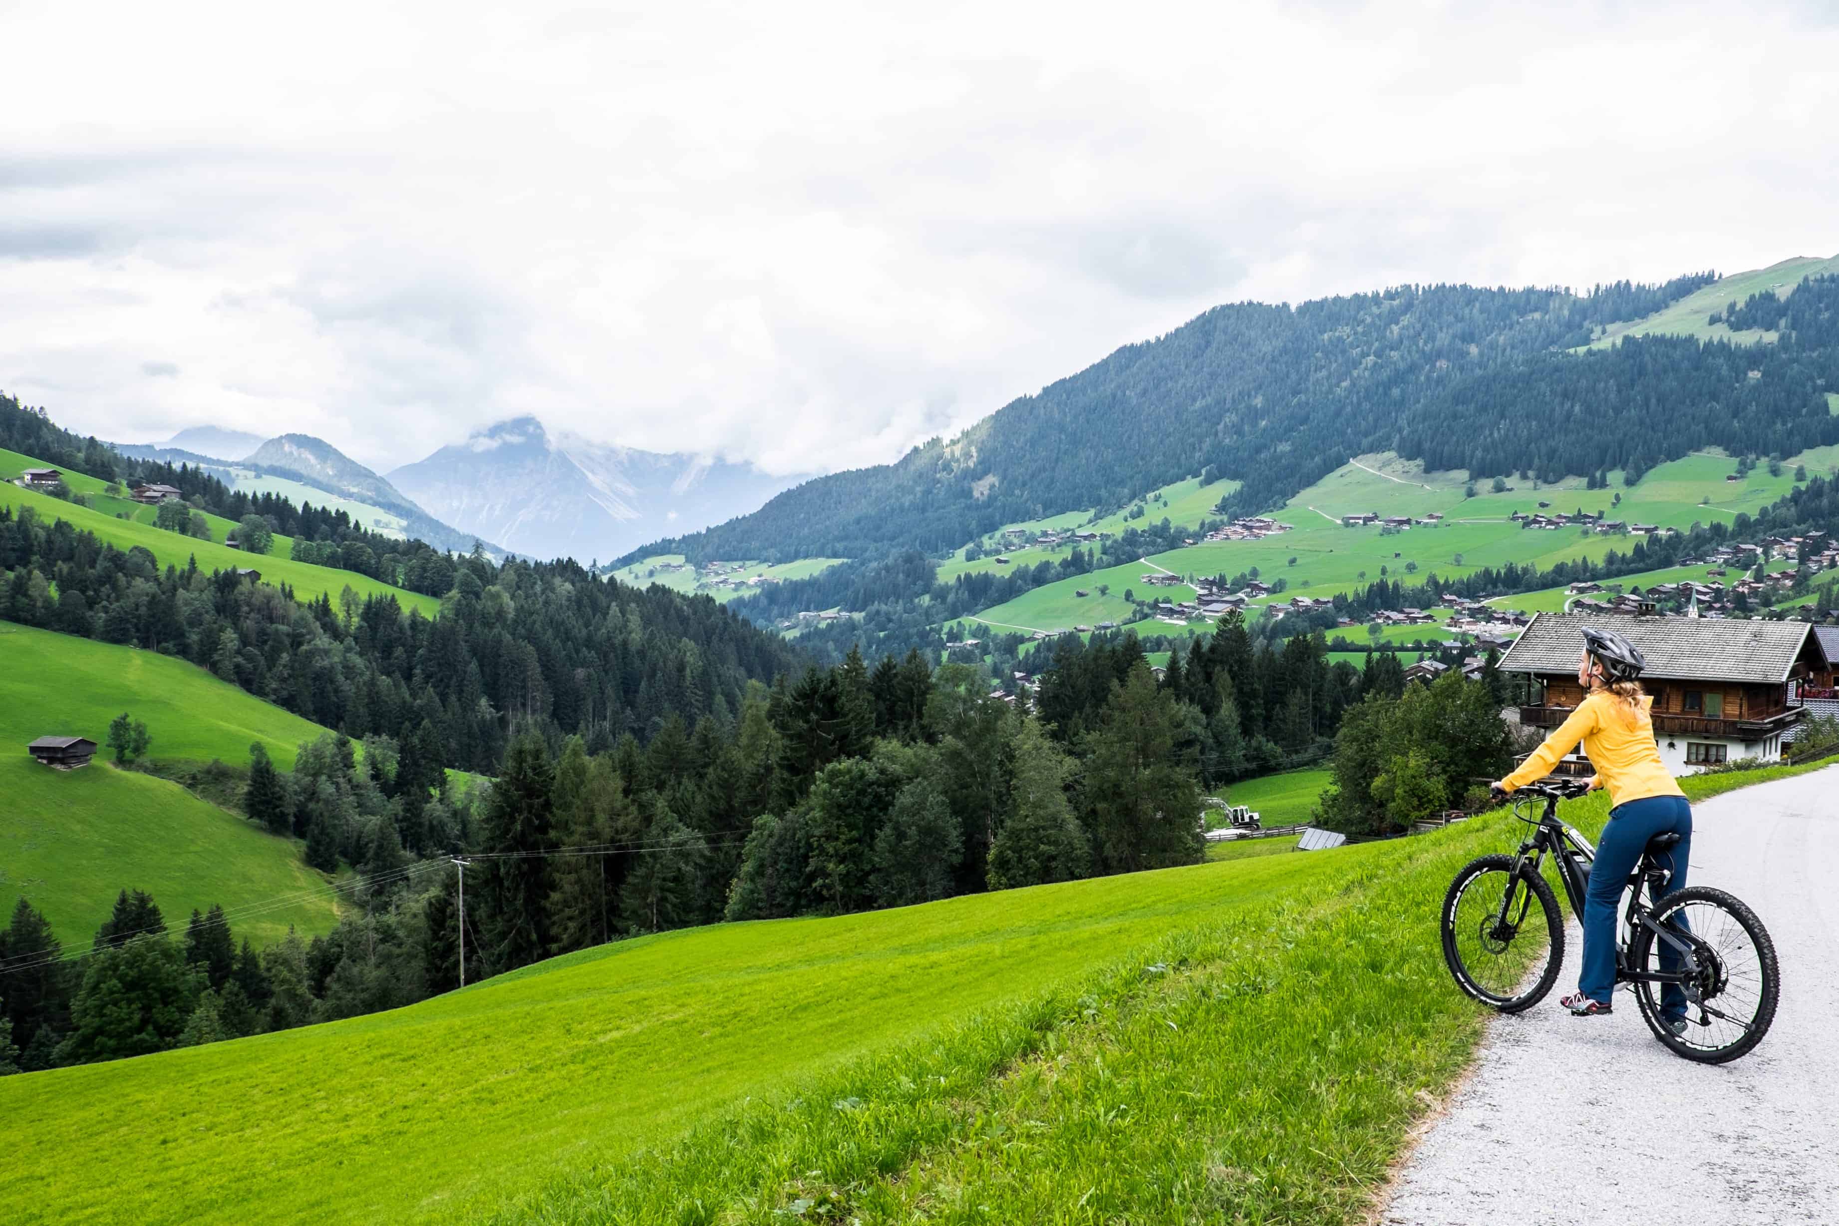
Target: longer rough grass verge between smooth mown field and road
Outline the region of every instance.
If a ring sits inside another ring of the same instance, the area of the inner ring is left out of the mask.
[[[1604,805],[1571,801],[1565,818],[1594,833]],[[1497,811],[1309,853],[1320,875],[1274,906],[554,1180],[491,1220],[1361,1220],[1490,1016],[1449,983],[1442,893],[1515,836]]]

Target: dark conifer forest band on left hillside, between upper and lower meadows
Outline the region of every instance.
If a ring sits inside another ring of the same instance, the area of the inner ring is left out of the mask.
[[[296,601],[235,572],[158,566],[68,520],[0,507],[0,618],[180,656],[326,728],[423,743],[491,774],[513,722],[596,748],[673,713],[739,709],[794,671],[778,636],[708,597],[636,590],[574,562],[452,559],[438,618],[395,596]]]

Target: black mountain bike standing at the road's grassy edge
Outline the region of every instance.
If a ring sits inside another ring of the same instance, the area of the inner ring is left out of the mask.
[[[1596,847],[1558,820],[1558,801],[1587,790],[1582,779],[1519,789],[1513,816],[1532,827],[1519,851],[1471,860],[1444,895],[1449,974],[1464,993],[1501,1013],[1521,1013],[1545,1000],[1565,959],[1565,919],[1543,873],[1547,857],[1572,914],[1583,917]],[[1545,801],[1543,812],[1532,812],[1534,800]],[[1670,1051],[1723,1064],[1747,1055],[1769,1033],[1780,967],[1767,928],[1742,901],[1708,886],[1661,893],[1673,875],[1677,842],[1679,834],[1657,834],[1629,873],[1615,978],[1629,985],[1648,1029]],[[1683,996],[1683,1020],[1668,1018],[1668,996],[1675,1015]]]

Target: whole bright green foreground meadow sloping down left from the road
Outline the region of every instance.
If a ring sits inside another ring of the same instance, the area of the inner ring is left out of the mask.
[[[1594,829],[1602,805],[1567,816]],[[1493,814],[688,930],[395,1013],[9,1077],[0,1213],[1357,1220],[1482,1027],[1436,904],[1513,836]]]

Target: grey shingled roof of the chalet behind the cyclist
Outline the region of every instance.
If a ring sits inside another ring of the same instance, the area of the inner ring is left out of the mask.
[[[1648,660],[1642,676],[1780,684],[1813,630],[1806,621],[1576,618],[1537,614],[1502,656],[1502,673],[1576,673],[1583,629],[1616,630]]]

